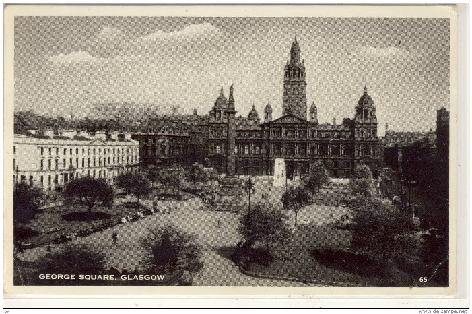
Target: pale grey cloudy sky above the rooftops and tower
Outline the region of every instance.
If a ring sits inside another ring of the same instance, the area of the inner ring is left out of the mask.
[[[237,115],[281,116],[296,32],[308,106],[353,118],[367,84],[379,135],[426,131],[449,110],[446,18],[16,17],[14,110],[85,117],[92,103],[208,113],[234,85]],[[339,122],[338,122],[339,123]]]

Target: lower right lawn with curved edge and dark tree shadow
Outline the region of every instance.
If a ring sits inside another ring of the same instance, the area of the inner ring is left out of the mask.
[[[379,264],[350,253],[350,232],[327,226],[298,226],[291,246],[297,250],[293,260],[274,260],[265,267],[253,263],[251,272],[299,279],[328,280],[373,287],[409,287],[410,276],[396,267],[379,270]],[[316,247],[312,249],[312,247]],[[344,246],[344,248],[342,247]]]

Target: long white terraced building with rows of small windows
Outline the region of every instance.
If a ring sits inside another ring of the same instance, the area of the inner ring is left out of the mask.
[[[113,183],[122,172],[139,169],[139,141],[131,133],[53,130],[15,134],[14,183],[24,180],[44,193],[61,191],[72,177],[91,176]]]

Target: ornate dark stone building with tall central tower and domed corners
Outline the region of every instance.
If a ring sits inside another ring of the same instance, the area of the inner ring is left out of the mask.
[[[308,173],[312,163],[322,161],[331,178],[350,178],[360,164],[367,165],[377,177],[378,123],[367,85],[353,108],[353,119],[320,124],[314,102],[307,119],[306,71],[300,52],[295,38],[283,72],[282,117],[272,119],[268,102],[261,120],[253,105],[247,118],[236,117],[235,147],[226,147],[228,100],[221,88],[208,115],[207,165],[224,173],[226,152],[234,149],[236,174],[273,175],[275,160],[284,158],[287,171],[294,176]]]

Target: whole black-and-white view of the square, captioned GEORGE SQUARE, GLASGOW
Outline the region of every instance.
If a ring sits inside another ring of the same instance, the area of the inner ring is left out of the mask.
[[[13,287],[454,289],[450,18],[149,15],[14,17]]]

